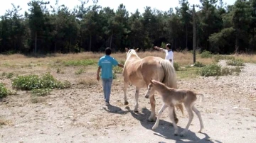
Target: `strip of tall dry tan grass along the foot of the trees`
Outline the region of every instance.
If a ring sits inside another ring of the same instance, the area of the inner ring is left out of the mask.
[[[80,59],[95,59],[98,60],[100,57],[105,55],[103,52],[81,52],[77,54],[53,54],[47,55],[46,57],[26,57],[24,55],[15,54],[15,55],[0,55],[0,65],[8,65],[9,67],[22,66],[28,64],[35,64],[36,66],[46,66],[48,64],[61,63],[69,60],[80,60]],[[164,52],[160,51],[147,51],[147,52],[138,52],[139,57],[146,56],[156,56],[164,58]],[[242,59],[245,62],[256,63],[256,55],[230,55],[235,58]],[[124,62],[126,59],[126,52],[116,52],[112,54],[112,57],[116,58],[119,62]],[[210,64],[213,62],[212,58],[201,58],[199,54],[196,55],[196,61],[201,62],[202,64]],[[183,52],[174,52],[174,62],[177,62],[180,65],[190,65],[193,64],[193,54],[188,51]]]

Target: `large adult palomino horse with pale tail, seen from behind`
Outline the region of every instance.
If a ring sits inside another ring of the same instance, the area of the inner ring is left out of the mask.
[[[150,84],[150,79],[155,79],[156,81],[163,82],[166,84],[166,86],[177,88],[176,73],[171,62],[166,59],[162,59],[161,57],[149,56],[140,58],[136,53],[138,49],[128,50],[125,48],[125,50],[127,51],[127,59],[124,63],[124,69],[122,73],[124,76],[124,105],[128,105],[127,87],[129,84],[136,86],[136,103],[134,112],[138,112],[139,89],[147,88],[147,86]],[[154,88],[152,88],[149,96],[151,104],[151,115],[149,116],[149,121],[156,120],[156,100],[154,98],[154,91]],[[181,104],[178,105],[178,108],[183,113],[183,106]],[[175,110],[174,118],[175,121],[178,122]]]

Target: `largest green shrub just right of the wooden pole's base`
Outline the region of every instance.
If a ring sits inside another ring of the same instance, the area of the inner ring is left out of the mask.
[[[218,64],[209,64],[201,68],[198,72],[201,76],[220,76],[221,67]]]

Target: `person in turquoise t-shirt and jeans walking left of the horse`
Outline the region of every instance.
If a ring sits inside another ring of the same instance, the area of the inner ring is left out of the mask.
[[[102,78],[102,85],[103,85],[103,91],[104,91],[104,99],[106,102],[106,105],[110,105],[110,93],[111,93],[111,86],[112,86],[112,80],[113,80],[113,66],[118,67],[124,67],[124,65],[119,64],[114,57],[110,57],[111,55],[111,49],[110,47],[107,47],[105,50],[105,56],[101,57],[98,62],[98,69],[97,69],[97,80],[100,80],[100,70],[101,78]]]

